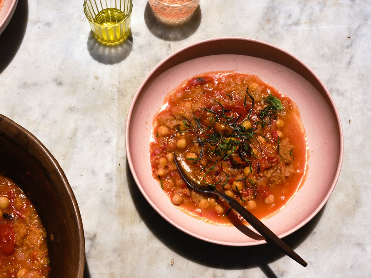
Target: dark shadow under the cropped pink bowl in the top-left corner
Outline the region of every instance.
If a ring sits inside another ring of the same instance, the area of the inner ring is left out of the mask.
[[[28,2],[19,0],[12,19],[0,35],[0,73],[12,62],[22,44],[28,20]]]

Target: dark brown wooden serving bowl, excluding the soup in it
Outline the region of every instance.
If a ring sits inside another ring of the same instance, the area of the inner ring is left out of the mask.
[[[0,115],[0,173],[28,195],[47,232],[50,277],[82,278],[85,241],[75,195],[50,152],[26,129]]]

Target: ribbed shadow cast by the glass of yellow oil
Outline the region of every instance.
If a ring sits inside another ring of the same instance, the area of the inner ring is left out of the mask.
[[[93,31],[90,31],[86,44],[89,54],[94,60],[102,64],[116,64],[129,56],[133,48],[133,36],[130,30],[127,39],[111,46],[99,42]]]

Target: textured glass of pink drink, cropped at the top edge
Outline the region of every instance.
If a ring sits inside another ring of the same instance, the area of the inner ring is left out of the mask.
[[[191,17],[200,0],[148,0],[148,3],[161,22],[181,24]]]

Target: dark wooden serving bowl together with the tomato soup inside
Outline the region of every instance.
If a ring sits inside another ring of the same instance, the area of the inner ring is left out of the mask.
[[[35,136],[3,115],[0,226],[5,277],[83,277],[83,226],[67,178]]]

